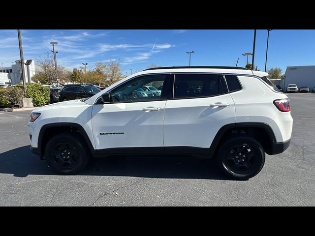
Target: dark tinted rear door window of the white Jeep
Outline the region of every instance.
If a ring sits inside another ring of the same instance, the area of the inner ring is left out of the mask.
[[[206,97],[226,92],[222,75],[176,74],[174,98]],[[224,89],[223,89],[224,88]]]

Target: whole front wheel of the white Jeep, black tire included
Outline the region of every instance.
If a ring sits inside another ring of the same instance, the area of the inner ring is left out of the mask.
[[[80,135],[65,132],[48,141],[45,158],[49,166],[58,173],[71,175],[81,171],[88,164],[90,152]]]

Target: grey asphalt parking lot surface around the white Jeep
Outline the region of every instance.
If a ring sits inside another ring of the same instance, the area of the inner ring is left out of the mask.
[[[315,206],[315,93],[291,93],[290,147],[248,181],[189,156],[96,159],[56,175],[29,149],[31,111],[0,112],[0,206]]]

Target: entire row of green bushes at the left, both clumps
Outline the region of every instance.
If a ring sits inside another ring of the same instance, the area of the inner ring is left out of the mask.
[[[32,83],[27,83],[26,92],[23,85],[0,88],[0,108],[22,108],[23,98],[32,98],[34,106],[45,106],[49,103],[49,88]]]

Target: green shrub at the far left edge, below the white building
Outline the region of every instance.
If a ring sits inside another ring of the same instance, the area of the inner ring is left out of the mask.
[[[0,106],[23,107],[24,90],[18,87],[0,89]]]

